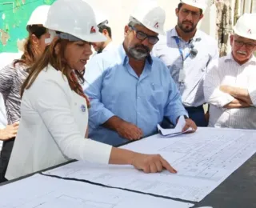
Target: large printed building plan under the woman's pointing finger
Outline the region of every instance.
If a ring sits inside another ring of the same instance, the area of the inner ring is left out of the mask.
[[[132,166],[86,162],[74,162],[46,174],[199,202],[255,153],[256,133],[254,130],[198,128],[194,134],[172,139],[154,135],[124,148],[161,154],[178,174],[166,170],[160,174],[144,174]]]

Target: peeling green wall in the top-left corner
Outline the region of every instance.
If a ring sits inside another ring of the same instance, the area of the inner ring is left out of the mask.
[[[26,22],[40,5],[55,0],[0,0],[0,53],[18,52],[17,41],[27,37]]]

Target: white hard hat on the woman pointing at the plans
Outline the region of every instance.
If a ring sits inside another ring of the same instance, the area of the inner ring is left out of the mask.
[[[106,37],[98,32],[94,10],[83,0],[54,2],[50,6],[44,26],[51,30],[52,36],[52,31],[61,32],[61,35],[58,35],[60,38],[77,38],[86,42],[106,41]]]

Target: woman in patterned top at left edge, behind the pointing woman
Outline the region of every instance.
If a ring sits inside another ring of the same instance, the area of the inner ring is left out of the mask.
[[[8,120],[8,126],[0,134],[0,140],[4,141],[0,157],[0,182],[6,181],[4,176],[18,131],[18,122],[21,116],[20,90],[22,83],[28,76],[26,69],[32,66],[46,47],[45,38],[49,34],[46,33],[46,28],[42,24],[46,21],[49,8],[50,6],[38,6],[33,11],[26,26],[29,37],[24,45],[24,54],[20,59],[14,60],[0,72],[0,93],[2,93],[5,101]],[[26,147],[24,148],[26,149]]]

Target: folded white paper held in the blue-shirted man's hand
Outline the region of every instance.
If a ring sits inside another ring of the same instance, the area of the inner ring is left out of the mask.
[[[184,116],[181,116],[178,119],[178,123],[174,129],[164,129],[158,124],[158,132],[159,132],[159,134],[161,134],[163,137],[166,137],[166,138],[174,137],[178,134],[183,134],[186,131],[192,130],[192,128],[189,128],[185,132],[182,132],[185,125],[186,125],[186,120],[185,120]]]

